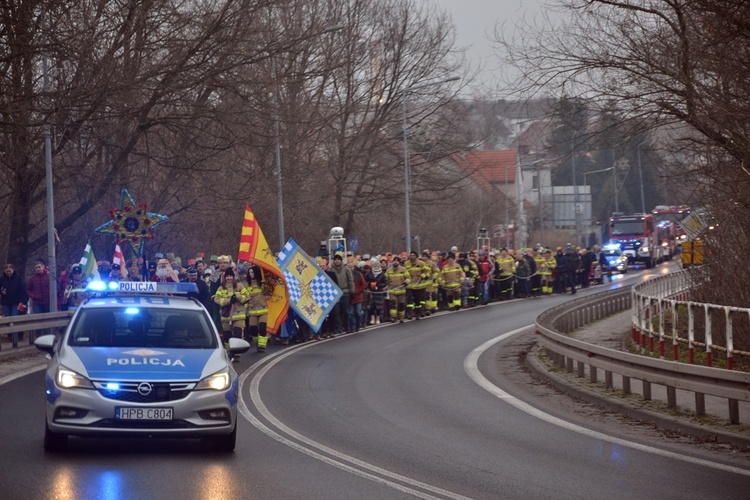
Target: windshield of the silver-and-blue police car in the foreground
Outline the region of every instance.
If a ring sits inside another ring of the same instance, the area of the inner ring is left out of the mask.
[[[216,336],[202,311],[166,308],[92,308],[80,311],[71,346],[210,349]]]

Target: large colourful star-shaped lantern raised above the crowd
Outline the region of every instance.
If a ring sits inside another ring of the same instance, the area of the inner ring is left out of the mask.
[[[153,229],[167,221],[166,215],[146,211],[146,204],[136,205],[127,189],[122,190],[120,208],[109,211],[112,220],[95,229],[99,234],[111,234],[117,243],[128,242],[133,253],[143,256],[143,240],[154,238]]]

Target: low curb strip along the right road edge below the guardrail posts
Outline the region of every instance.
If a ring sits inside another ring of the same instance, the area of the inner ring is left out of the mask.
[[[546,379],[553,387],[562,392],[605,408],[609,411],[638,420],[644,420],[659,427],[681,432],[706,442],[728,443],[742,449],[750,449],[750,436],[727,432],[713,427],[706,427],[692,422],[688,419],[689,417],[681,418],[654,410],[640,408],[628,403],[627,401],[623,401],[620,398],[608,396],[605,393],[572,384],[565,376],[547,369],[537,357],[540,350],[541,348],[537,347],[537,349],[530,351],[526,355],[526,366],[533,373]]]

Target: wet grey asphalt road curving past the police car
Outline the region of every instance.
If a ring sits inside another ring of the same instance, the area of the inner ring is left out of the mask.
[[[0,385],[0,495],[746,498],[747,456],[665,437],[525,372],[534,342],[525,327],[569,298],[245,355],[230,455],[191,441],[81,438],[66,454],[45,453],[42,373],[23,376]]]

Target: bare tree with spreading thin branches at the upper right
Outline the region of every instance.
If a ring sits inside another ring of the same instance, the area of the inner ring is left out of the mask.
[[[711,274],[731,281],[741,272],[734,283],[748,283],[736,249],[750,244],[750,5],[567,0],[558,10],[562,20],[548,18],[543,29],[529,27],[517,39],[498,33],[506,62],[521,72],[517,89],[585,97],[602,109],[614,101],[640,133],[684,131],[667,145],[680,168],[660,175],[689,179],[690,202],[709,205],[720,221],[710,240],[722,261]],[[750,287],[742,288],[713,298],[746,304]]]

